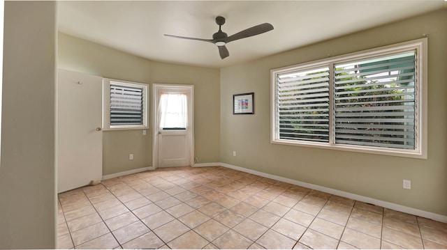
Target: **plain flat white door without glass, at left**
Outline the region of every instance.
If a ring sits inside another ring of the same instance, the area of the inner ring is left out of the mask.
[[[101,180],[102,78],[58,71],[57,192]]]

